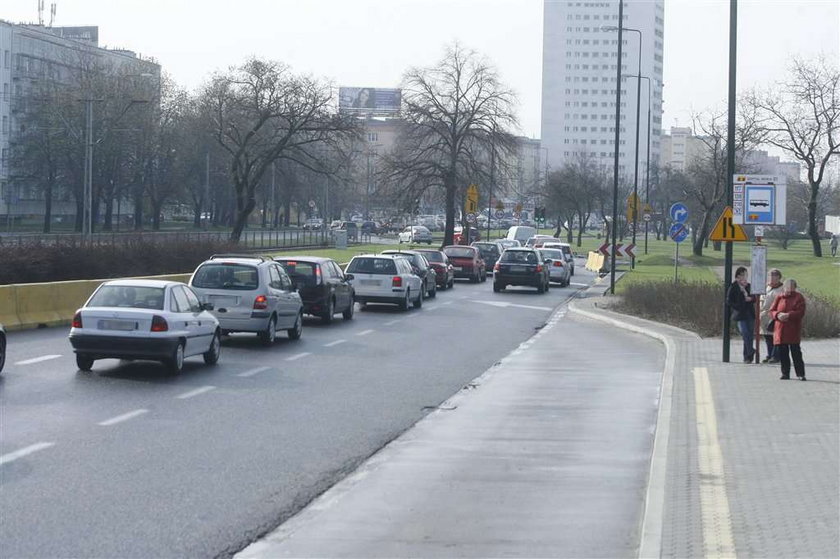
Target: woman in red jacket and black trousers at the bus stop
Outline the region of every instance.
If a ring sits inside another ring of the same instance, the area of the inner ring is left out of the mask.
[[[775,320],[773,345],[778,346],[778,358],[782,364],[782,380],[790,378],[790,359],[799,380],[805,379],[805,363],[802,361],[802,319],[805,317],[805,297],[796,290],[796,280],[788,279],[784,291],[773,301],[770,317]]]

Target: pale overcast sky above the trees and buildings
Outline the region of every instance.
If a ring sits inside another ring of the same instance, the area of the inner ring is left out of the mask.
[[[49,4],[45,17],[49,18]],[[101,46],[151,56],[180,84],[251,55],[336,85],[396,87],[406,68],[458,40],[519,95],[521,133],[540,135],[543,0],[58,0],[55,25],[98,25]],[[728,0],[666,0],[663,127],[724,107]],[[37,0],[2,0],[0,18],[37,21]],[[741,0],[738,86],[784,78],[791,55],[840,56],[838,0]]]

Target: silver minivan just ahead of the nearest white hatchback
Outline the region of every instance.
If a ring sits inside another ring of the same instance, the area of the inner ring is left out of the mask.
[[[297,340],[303,331],[303,301],[278,263],[262,256],[218,254],[201,263],[190,287],[213,304],[222,333],[255,332],[264,344],[278,330]]]

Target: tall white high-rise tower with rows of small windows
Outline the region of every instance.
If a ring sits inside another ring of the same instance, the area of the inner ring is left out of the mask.
[[[618,8],[615,0],[544,0],[541,136],[545,156],[554,169],[581,155],[594,158],[609,171],[613,169]],[[641,80],[641,182],[647,166],[648,133],[651,164],[659,161],[661,149],[664,1],[625,1],[623,23],[621,73],[637,75],[641,52],[641,74],[649,78]],[[620,86],[619,174],[632,181],[637,79],[623,77]]]

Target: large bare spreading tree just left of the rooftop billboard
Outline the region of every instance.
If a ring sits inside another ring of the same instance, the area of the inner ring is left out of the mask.
[[[230,157],[236,219],[230,239],[238,242],[257,205],[256,190],[281,158],[308,165],[306,147],[355,132],[355,124],[333,107],[328,84],[293,75],[285,65],[257,58],[212,78],[203,102],[216,141]]]

